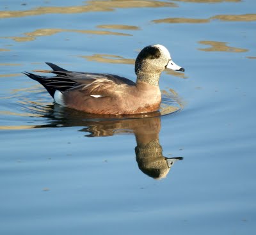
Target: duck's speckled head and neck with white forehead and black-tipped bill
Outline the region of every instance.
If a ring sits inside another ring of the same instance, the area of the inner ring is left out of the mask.
[[[135,61],[137,81],[158,86],[159,77],[166,69],[184,72],[184,68],[172,61],[170,52],[163,45],[149,45],[141,50]]]

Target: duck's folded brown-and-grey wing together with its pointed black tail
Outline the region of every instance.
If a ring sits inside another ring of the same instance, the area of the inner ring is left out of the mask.
[[[98,93],[106,95],[109,89],[115,90],[116,86],[134,86],[135,83],[124,77],[104,73],[84,73],[72,72],[65,70],[56,64],[46,63],[51,66],[56,76],[44,77],[33,73],[24,73],[33,80],[42,84],[49,94],[54,97],[56,90],[58,91],[81,91],[84,95],[98,95]],[[100,95],[99,94],[99,95]]]

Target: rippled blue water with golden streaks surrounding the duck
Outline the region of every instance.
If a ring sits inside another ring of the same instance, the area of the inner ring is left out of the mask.
[[[255,234],[255,6],[2,1],[0,233]],[[135,80],[152,43],[186,69],[162,74],[162,114],[73,112],[21,73]]]

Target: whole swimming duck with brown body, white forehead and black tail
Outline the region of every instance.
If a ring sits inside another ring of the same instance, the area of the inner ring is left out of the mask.
[[[161,103],[161,73],[165,68],[185,71],[173,63],[163,45],[149,45],[138,54],[135,62],[136,82],[117,75],[72,72],[52,63],[46,64],[51,66],[51,73],[56,76],[24,74],[40,82],[56,103],[92,114],[154,112]]]

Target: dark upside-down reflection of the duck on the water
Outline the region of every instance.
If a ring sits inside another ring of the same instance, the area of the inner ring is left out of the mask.
[[[146,114],[144,114],[144,118],[136,116],[131,118],[129,116],[129,118],[102,119],[102,116],[92,116],[63,109],[65,108],[59,105],[54,106],[55,111],[52,114],[58,115],[51,126],[86,126],[79,130],[88,133],[84,135],[85,137],[109,137],[119,133],[133,133],[137,143],[135,154],[138,167],[144,174],[154,179],[165,178],[173,164],[183,159],[182,157],[167,158],[163,156],[163,148],[159,143],[159,132],[161,130],[159,112],[147,114],[149,117],[145,117]],[[56,112],[56,110],[58,111]],[[60,118],[61,112],[62,114],[65,113],[65,117]],[[84,115],[86,115],[85,118]]]

